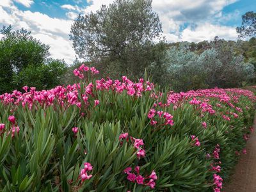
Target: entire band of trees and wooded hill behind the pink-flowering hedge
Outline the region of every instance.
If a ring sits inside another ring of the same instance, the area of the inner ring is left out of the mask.
[[[256,13],[248,12],[237,27],[239,38],[247,40],[170,44],[161,36],[152,0],[116,0],[74,20],[70,40],[79,60],[68,66],[49,57],[49,46],[29,31],[3,27],[0,93],[25,84],[42,90],[75,83],[72,70],[84,62],[99,68],[101,77],[136,80],[147,70],[154,83],[176,91],[243,86],[255,83],[255,31]]]

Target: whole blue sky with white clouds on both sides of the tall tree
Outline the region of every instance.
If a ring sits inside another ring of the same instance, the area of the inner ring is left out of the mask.
[[[109,3],[113,0],[0,0],[0,28],[28,29],[51,46],[52,58],[71,64],[76,53],[68,34],[74,19]],[[241,16],[256,12],[256,0],[153,0],[152,8],[168,42],[200,42],[214,36],[236,40]]]

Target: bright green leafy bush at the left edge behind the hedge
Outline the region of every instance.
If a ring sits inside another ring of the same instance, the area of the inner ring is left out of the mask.
[[[21,90],[24,84],[42,90],[60,84],[67,70],[62,60],[49,58],[49,46],[31,36],[26,29],[13,31],[3,26],[0,33],[0,93]]]

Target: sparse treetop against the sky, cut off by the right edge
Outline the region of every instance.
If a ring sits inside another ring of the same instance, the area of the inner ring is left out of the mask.
[[[247,12],[242,16],[242,19],[241,27],[236,28],[239,37],[256,36],[256,13]]]

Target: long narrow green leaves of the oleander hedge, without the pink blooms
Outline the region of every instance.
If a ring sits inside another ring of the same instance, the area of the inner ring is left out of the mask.
[[[230,122],[220,115],[200,117],[195,106],[183,102],[177,109],[173,105],[164,108],[173,115],[172,127],[154,127],[147,118],[155,102],[149,92],[139,98],[112,90],[93,94],[100,104],[94,108],[93,99],[89,100],[84,116],[76,106],[17,106],[13,115],[19,134],[0,137],[1,191],[211,191],[212,159],[205,155],[220,145],[220,175],[227,179],[237,161],[235,151],[243,149],[243,135],[253,120],[253,103],[241,96],[236,106],[244,112]],[[163,93],[163,99],[167,94]],[[212,98],[209,104],[218,102]],[[5,122],[6,127],[10,127],[10,109],[12,106],[0,103],[0,123]],[[236,112],[227,104],[214,109],[218,114]],[[207,122],[207,129],[202,121]],[[75,126],[79,127],[77,136],[72,132]],[[138,160],[131,141],[120,145],[118,137],[124,132],[143,139],[145,158]],[[200,147],[193,145],[191,135],[198,136]],[[92,163],[93,177],[81,184],[79,172],[84,162]],[[156,189],[127,181],[123,171],[128,166],[140,166],[141,175],[155,170]]]

